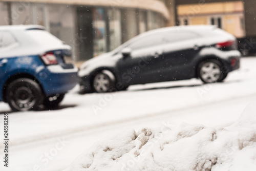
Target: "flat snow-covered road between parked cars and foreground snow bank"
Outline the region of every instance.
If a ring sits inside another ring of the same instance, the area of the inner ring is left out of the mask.
[[[55,111],[11,113],[0,103],[1,125],[4,112],[10,118],[9,170],[61,170],[102,137],[125,128],[182,122],[228,126],[256,99],[255,63],[256,58],[243,58],[241,69],[223,83],[191,79],[87,95],[78,95],[75,88]]]

